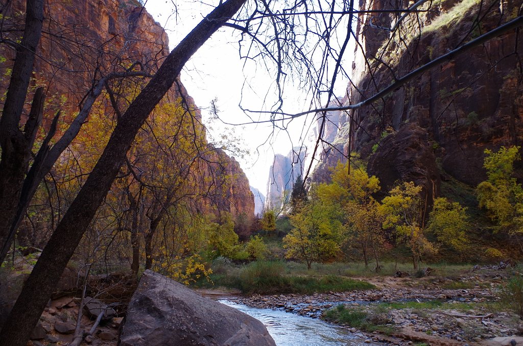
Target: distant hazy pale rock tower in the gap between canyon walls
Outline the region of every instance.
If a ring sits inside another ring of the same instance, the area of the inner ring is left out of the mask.
[[[274,156],[274,162],[269,169],[265,197],[265,205],[269,209],[279,212],[285,208],[294,181],[303,174],[306,154],[305,147],[294,147],[287,156]]]

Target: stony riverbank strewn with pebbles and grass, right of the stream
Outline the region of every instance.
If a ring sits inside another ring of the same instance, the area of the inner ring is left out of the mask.
[[[470,267],[456,276],[365,280],[377,288],[353,292],[236,296],[229,300],[308,318],[322,318],[388,344],[523,344],[518,316],[498,302],[497,291],[514,268]],[[353,278],[358,279],[358,278]]]

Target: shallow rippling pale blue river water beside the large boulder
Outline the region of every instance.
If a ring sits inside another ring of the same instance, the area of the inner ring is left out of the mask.
[[[328,324],[320,319],[286,313],[283,310],[259,309],[237,304],[226,299],[219,301],[260,320],[278,346],[334,346],[383,345],[365,343],[365,336],[350,333],[345,328]]]

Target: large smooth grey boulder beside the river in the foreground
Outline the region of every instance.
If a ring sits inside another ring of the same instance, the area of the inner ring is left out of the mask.
[[[276,345],[257,319],[146,270],[131,298],[121,346]]]

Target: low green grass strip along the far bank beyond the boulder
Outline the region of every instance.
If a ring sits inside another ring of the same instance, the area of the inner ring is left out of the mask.
[[[200,281],[200,287],[224,286],[243,293],[322,293],[368,290],[374,285],[334,275],[299,276],[286,274],[285,262],[256,261],[242,267],[221,267],[210,275],[212,282]]]

